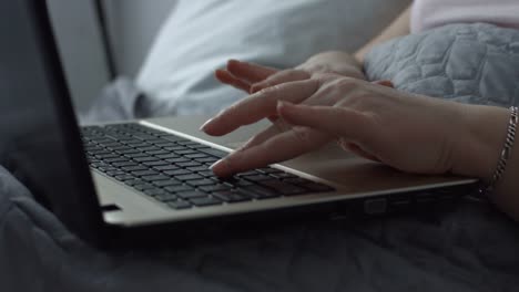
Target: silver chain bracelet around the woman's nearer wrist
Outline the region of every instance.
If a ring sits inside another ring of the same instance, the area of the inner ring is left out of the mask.
[[[497,182],[501,178],[502,174],[505,174],[505,169],[507,167],[507,161],[510,156],[511,149],[513,147],[513,139],[516,138],[516,127],[517,123],[519,122],[519,109],[517,106],[510,107],[511,115],[510,121],[508,122],[507,128],[507,139],[505,140],[505,146],[501,150],[501,157],[499,158],[498,166],[496,171],[493,171],[492,179],[490,182],[481,188],[479,188],[480,195],[489,196],[492,194],[493,189],[496,188]]]

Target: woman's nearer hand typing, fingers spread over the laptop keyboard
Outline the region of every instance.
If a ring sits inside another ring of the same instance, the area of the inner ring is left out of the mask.
[[[260,91],[208,121],[202,129],[210,135],[225,135],[272,115],[278,115],[287,125],[267,128],[216,163],[212,169],[222,177],[291,159],[332,140],[404,171],[476,176],[488,164],[477,167],[471,161],[480,155],[474,145],[481,142],[471,136],[472,124],[466,118],[469,107],[322,74]]]

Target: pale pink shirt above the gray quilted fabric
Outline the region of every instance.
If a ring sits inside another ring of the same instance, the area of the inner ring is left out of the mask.
[[[519,0],[415,0],[413,4],[411,32],[462,22],[519,29]]]

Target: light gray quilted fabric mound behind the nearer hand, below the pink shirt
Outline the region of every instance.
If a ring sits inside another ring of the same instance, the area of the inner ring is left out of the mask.
[[[450,24],[395,39],[368,53],[370,80],[456,102],[519,105],[519,30]]]

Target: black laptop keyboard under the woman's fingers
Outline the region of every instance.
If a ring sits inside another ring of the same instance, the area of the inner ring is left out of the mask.
[[[81,129],[92,168],[173,209],[334,190],[272,167],[221,179],[208,166],[227,153],[135,123]]]

